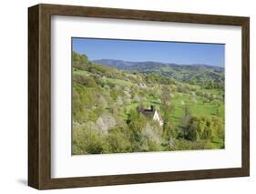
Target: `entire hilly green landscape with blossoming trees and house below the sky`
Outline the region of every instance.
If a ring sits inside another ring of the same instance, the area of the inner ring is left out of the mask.
[[[72,60],[73,154],[224,148],[223,68]]]

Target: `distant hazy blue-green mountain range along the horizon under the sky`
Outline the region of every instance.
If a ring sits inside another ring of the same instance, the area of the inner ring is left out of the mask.
[[[154,61],[130,62],[115,59],[100,59],[92,61],[97,64],[116,67],[121,70],[139,73],[156,73],[165,77],[173,77],[183,82],[205,82],[212,80],[224,83],[224,67],[204,64],[179,65],[175,63],[161,63]]]

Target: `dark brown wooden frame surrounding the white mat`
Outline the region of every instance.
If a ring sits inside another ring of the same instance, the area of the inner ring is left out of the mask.
[[[201,169],[111,176],[51,178],[51,15],[241,26],[241,168]],[[28,185],[60,189],[250,175],[250,18],[71,5],[28,8]]]

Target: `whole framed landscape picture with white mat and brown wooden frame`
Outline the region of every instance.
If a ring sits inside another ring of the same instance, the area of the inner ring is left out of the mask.
[[[28,8],[28,185],[250,174],[249,17]]]

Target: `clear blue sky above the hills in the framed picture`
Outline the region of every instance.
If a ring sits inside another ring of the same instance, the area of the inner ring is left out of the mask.
[[[224,66],[225,45],[162,41],[72,38],[73,50],[89,60],[118,59]]]

